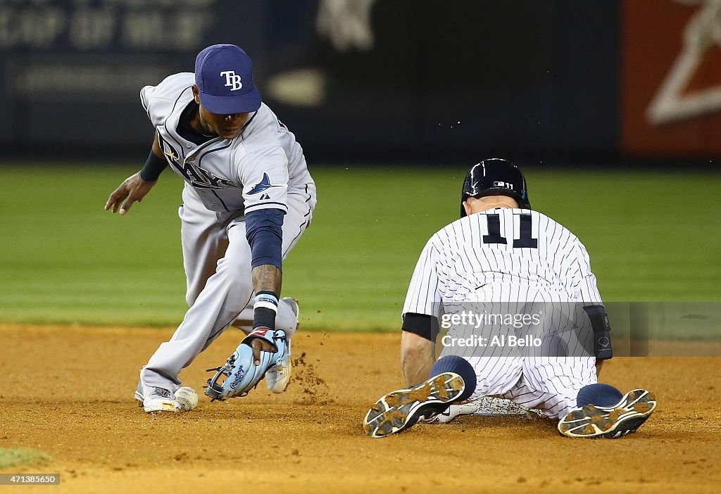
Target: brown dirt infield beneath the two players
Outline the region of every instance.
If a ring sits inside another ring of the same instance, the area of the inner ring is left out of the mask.
[[[399,335],[299,333],[283,395],[148,416],[138,370],[172,329],[0,325],[0,449],[52,460],[9,472],[61,474],[15,492],[717,492],[721,377],[713,357],[614,359],[603,381],[647,387],[658,410],[632,436],[574,440],[541,419],[462,417],[369,439],[369,404],[402,385]],[[238,335],[181,375],[202,392]]]

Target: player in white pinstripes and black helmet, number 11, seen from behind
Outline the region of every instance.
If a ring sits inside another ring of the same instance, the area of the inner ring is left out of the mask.
[[[612,356],[611,328],[588,253],[569,230],[531,210],[526,179],[508,161],[488,159],[469,171],[461,218],[426,244],[402,315],[409,387],[368,410],[369,436],[484,396],[541,409],[570,437],[624,436],[656,407],[647,390],[623,395],[597,382],[597,367]],[[441,328],[449,329],[435,360]]]

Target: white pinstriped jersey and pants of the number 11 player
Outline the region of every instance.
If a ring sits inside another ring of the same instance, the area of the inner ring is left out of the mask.
[[[567,318],[559,312],[569,305],[602,305],[588,252],[575,235],[540,212],[496,208],[456,220],[430,238],[403,313],[448,320],[471,307],[490,314],[527,312],[528,302],[543,306],[537,311],[543,313],[541,325]],[[486,323],[485,335],[504,330],[500,320]],[[454,328],[448,335],[459,336]],[[558,418],[575,407],[581,387],[596,382],[593,356],[531,358],[491,341],[451,344],[460,339],[443,341],[441,356],[456,354],[473,365],[472,399],[502,396]]]

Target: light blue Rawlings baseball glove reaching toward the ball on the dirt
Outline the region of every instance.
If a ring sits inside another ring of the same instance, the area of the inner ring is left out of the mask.
[[[255,365],[252,341],[261,338],[275,347],[275,350],[260,350],[260,364]],[[211,400],[227,400],[245,396],[257,386],[270,367],[278,363],[288,351],[288,339],[282,329],[255,328],[243,338],[238,348],[229,356],[224,367],[208,369],[216,374],[208,379],[205,395]]]

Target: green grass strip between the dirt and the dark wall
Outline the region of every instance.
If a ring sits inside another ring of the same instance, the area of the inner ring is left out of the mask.
[[[128,166],[0,166],[0,321],[177,325],[180,179],[120,217]],[[317,166],[313,225],[284,265],[306,330],[394,330],[431,234],[456,219],[461,167]],[[721,301],[721,174],[529,169],[531,204],[585,243],[607,301]]]

